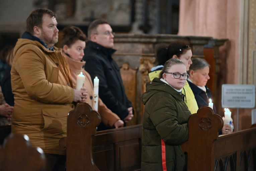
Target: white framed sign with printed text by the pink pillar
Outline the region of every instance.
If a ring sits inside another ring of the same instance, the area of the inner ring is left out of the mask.
[[[223,84],[222,107],[254,108],[255,86],[248,84]]]

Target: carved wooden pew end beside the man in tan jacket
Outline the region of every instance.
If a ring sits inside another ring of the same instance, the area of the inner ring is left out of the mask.
[[[99,113],[88,103],[79,103],[75,110],[69,112],[67,137],[59,141],[60,147],[67,148],[67,171],[99,170],[93,162],[91,137],[96,134],[100,122]]]

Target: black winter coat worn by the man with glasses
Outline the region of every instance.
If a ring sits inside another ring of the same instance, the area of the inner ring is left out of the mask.
[[[132,104],[125,95],[119,67],[111,57],[115,51],[89,41],[84,50],[84,69],[90,74],[92,82],[95,77],[99,78],[99,97],[123,120]]]

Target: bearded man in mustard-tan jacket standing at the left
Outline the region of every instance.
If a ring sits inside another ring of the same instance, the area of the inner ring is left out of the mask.
[[[14,94],[12,133],[26,134],[46,154],[46,170],[65,170],[66,151],[59,140],[67,134],[67,115],[87,98],[86,88],[73,89],[70,69],[58,41],[55,13],[31,12],[26,32],[14,48],[11,84]]]

